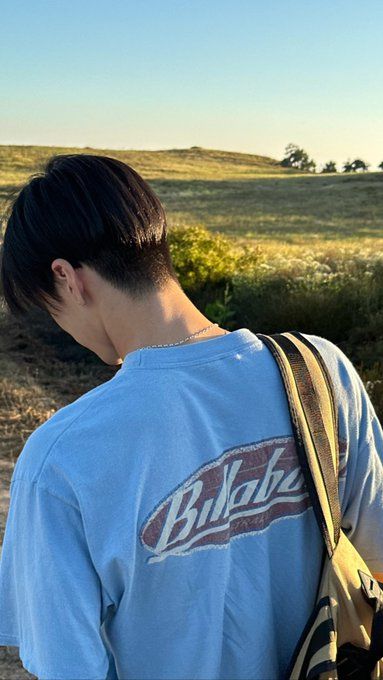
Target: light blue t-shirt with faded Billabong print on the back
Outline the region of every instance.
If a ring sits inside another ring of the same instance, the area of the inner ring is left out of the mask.
[[[383,432],[350,360],[335,384],[343,527],[383,571]],[[278,679],[322,541],[283,382],[247,328],[138,349],[16,462],[0,644],[41,680]]]

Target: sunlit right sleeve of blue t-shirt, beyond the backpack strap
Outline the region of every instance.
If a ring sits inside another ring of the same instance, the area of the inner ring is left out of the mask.
[[[306,334],[304,334],[306,335]],[[335,387],[346,445],[341,459],[342,529],[371,571],[383,572],[383,430],[348,356],[330,340],[306,335],[321,352]]]

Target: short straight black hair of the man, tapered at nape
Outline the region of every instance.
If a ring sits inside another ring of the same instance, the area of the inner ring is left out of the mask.
[[[62,302],[51,269],[56,257],[74,268],[87,264],[133,297],[170,278],[179,285],[164,208],[149,184],[116,158],[54,155],[8,211],[0,280],[15,315]]]

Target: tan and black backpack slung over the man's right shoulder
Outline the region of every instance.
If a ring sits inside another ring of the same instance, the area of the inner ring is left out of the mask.
[[[328,368],[297,331],[257,337],[283,379],[299,463],[324,542],[315,606],[286,680],[377,680],[383,677],[383,584],[341,528],[338,412]]]

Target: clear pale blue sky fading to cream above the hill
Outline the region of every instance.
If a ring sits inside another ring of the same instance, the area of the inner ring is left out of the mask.
[[[383,161],[383,0],[0,0],[0,144]]]

